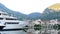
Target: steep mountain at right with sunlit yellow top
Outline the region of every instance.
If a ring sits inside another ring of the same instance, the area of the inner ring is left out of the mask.
[[[60,4],[54,4],[45,9],[42,14],[42,20],[52,20],[58,19],[60,20]]]

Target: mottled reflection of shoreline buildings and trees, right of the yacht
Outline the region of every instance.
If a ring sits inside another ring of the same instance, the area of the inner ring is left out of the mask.
[[[47,28],[41,28],[40,30],[29,28],[28,30],[26,30],[26,34],[60,34],[60,30],[54,29],[51,26]]]

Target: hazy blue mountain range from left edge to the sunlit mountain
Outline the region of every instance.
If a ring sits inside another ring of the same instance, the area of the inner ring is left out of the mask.
[[[10,10],[1,3],[0,3],[0,10],[7,12],[9,15],[17,17],[19,20],[25,20],[25,19],[37,20],[37,19],[40,19],[40,17],[41,17],[41,13],[34,12],[34,13],[29,14],[29,15],[26,15],[26,14],[23,14],[23,13],[20,13],[17,11]]]

